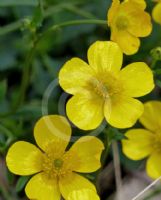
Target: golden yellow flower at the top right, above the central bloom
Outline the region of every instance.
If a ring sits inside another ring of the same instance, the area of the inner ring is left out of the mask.
[[[108,25],[111,40],[117,42],[122,51],[131,55],[138,51],[139,37],[148,36],[152,31],[150,15],[144,11],[143,0],[113,0],[108,11]]]

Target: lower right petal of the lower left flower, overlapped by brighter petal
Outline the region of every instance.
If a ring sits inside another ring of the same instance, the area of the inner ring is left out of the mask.
[[[59,187],[64,199],[67,199],[69,194],[75,190],[89,189],[96,192],[95,186],[88,179],[76,173],[60,178]]]

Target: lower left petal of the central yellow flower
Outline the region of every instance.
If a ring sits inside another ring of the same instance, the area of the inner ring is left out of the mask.
[[[76,94],[67,103],[67,116],[80,129],[97,128],[103,120],[103,99],[91,93]]]

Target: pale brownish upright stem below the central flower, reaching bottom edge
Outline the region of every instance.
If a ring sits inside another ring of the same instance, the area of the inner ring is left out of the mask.
[[[113,140],[112,142],[112,150],[113,150],[114,170],[115,170],[115,180],[116,180],[116,195],[117,195],[117,200],[121,200],[122,180],[121,180],[120,157],[119,157],[118,144],[117,141],[115,140]]]

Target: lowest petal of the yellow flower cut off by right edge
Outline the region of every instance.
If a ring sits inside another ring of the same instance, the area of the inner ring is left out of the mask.
[[[151,178],[159,178],[161,176],[161,159],[160,153],[154,152],[146,163],[147,174]]]

